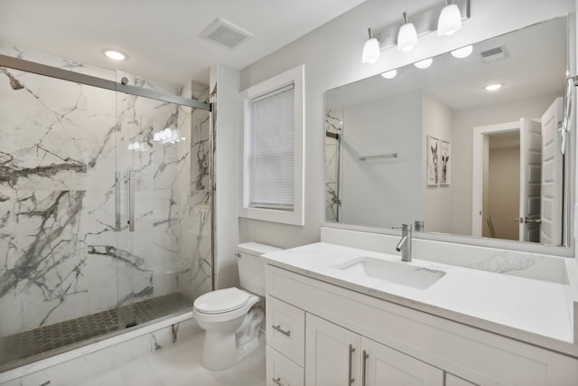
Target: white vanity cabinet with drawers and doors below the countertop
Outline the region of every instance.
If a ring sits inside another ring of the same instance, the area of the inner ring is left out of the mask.
[[[268,386],[578,384],[575,355],[361,291],[266,265]]]

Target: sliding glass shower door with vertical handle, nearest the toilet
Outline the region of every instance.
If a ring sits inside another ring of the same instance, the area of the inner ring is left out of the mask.
[[[122,78],[122,77],[121,77]],[[140,88],[165,86],[136,79]],[[166,89],[176,94],[179,89]],[[191,107],[117,92],[118,325],[146,323],[192,305],[183,248],[192,235]]]

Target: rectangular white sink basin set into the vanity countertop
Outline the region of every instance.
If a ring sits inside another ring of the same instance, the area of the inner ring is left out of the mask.
[[[402,262],[387,261],[369,257],[353,259],[336,266],[344,272],[356,276],[378,278],[402,286],[425,289],[445,275],[437,269],[415,267]]]

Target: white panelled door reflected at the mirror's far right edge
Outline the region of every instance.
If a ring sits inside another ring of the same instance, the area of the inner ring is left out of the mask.
[[[562,218],[562,164],[560,152],[561,139],[558,136],[558,125],[562,121],[562,98],[554,103],[542,116],[542,197],[540,243],[562,244],[562,227],[558,219]]]

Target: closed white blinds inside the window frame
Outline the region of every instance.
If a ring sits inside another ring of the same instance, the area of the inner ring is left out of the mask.
[[[294,209],[294,85],[251,101],[249,206]]]

